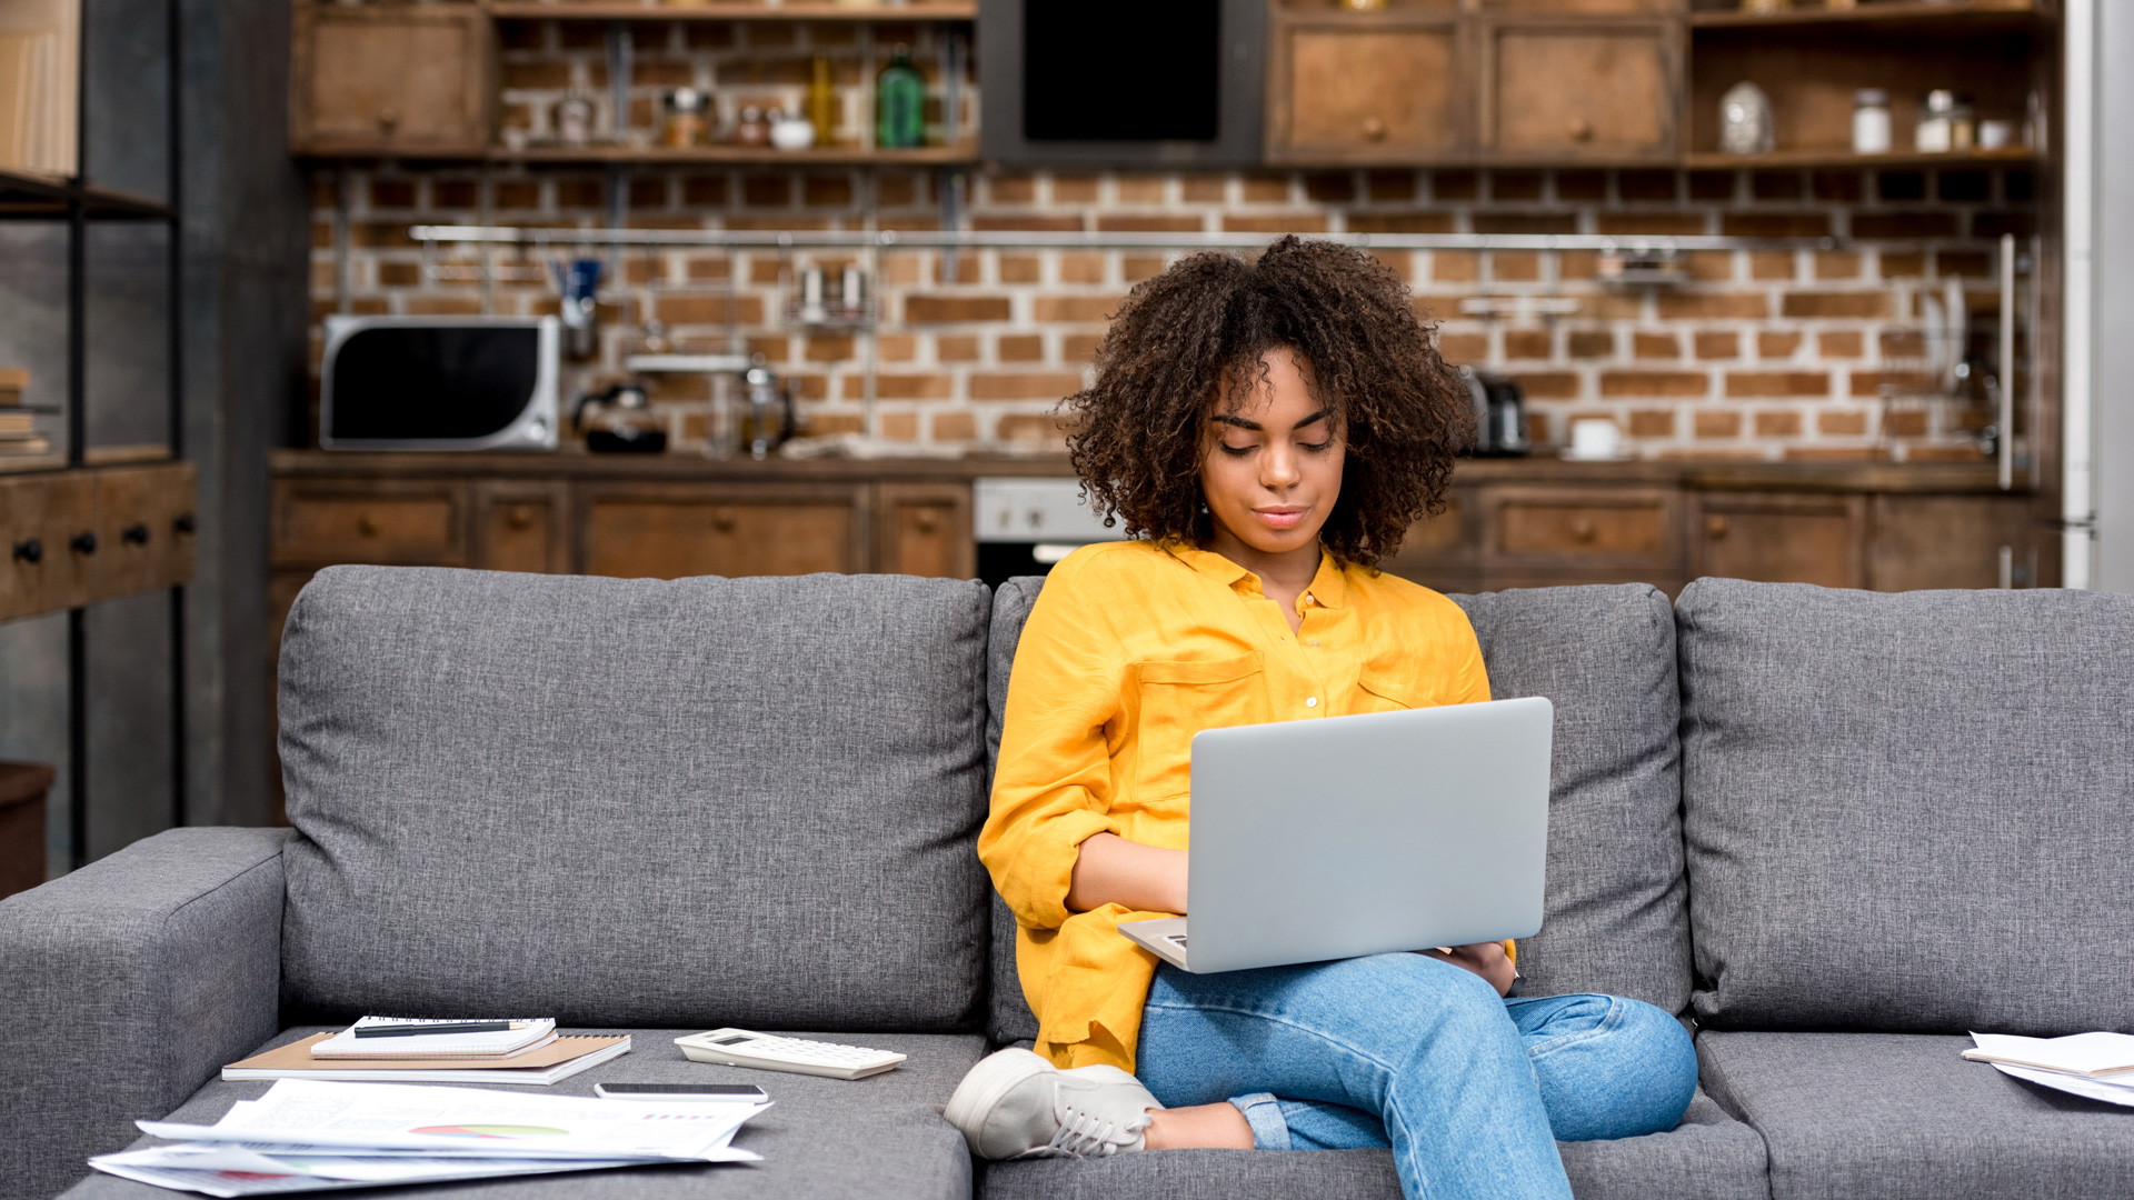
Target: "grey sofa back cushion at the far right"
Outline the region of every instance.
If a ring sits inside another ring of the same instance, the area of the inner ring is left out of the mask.
[[[1701,579],[1675,613],[1707,1027],[2134,1029],[2134,596]]]

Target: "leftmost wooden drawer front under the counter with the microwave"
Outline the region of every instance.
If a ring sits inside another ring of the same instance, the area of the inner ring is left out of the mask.
[[[273,557],[282,564],[365,562],[465,566],[465,489],[373,485],[363,491],[277,487]]]

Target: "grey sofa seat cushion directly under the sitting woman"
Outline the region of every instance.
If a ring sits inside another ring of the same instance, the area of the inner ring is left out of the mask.
[[[1558,1142],[1577,1200],[1767,1200],[1763,1138],[1703,1091],[1682,1125]],[[1391,1151],[1150,1151],[984,1164],[986,1200],[1400,1200]]]

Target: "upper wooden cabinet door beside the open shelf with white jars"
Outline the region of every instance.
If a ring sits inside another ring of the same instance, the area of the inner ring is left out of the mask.
[[[1682,109],[1675,23],[1504,19],[1483,21],[1479,38],[1485,158],[1675,158]]]

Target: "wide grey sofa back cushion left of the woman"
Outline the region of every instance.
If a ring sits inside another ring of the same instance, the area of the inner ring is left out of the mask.
[[[284,997],[975,1027],[984,585],[329,568],[282,645]]]

